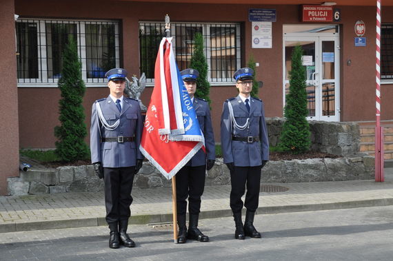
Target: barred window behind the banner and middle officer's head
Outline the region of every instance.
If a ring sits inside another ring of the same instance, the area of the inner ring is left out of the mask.
[[[139,22],[140,72],[148,83],[154,82],[154,64],[159,43],[165,35],[165,23]],[[171,23],[172,44],[179,70],[190,66],[194,35],[200,32],[208,62],[208,81],[226,83],[241,67],[241,32],[239,23]]]

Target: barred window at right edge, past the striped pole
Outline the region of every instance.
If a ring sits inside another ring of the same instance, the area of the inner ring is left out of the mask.
[[[393,81],[393,24],[381,25],[381,80]]]

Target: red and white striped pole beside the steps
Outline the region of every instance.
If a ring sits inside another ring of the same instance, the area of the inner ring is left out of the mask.
[[[376,0],[376,127],[375,181],[383,182],[383,127],[381,127],[381,0]]]

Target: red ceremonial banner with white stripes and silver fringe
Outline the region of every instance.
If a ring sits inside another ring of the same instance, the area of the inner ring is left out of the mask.
[[[177,134],[187,134],[188,128],[183,126],[182,115],[185,112],[181,111],[181,102],[190,97],[188,94],[183,97],[179,95],[183,81],[174,61],[170,41],[171,39],[164,38],[157,54],[154,90],[146,112],[140,146],[142,154],[168,179],[177,174],[177,171],[203,147],[203,136],[196,116],[194,126],[198,128],[199,134],[184,136],[183,140],[174,140]],[[193,110],[192,106],[190,109]]]

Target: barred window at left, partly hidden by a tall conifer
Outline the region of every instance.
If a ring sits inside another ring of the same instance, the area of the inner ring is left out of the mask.
[[[105,83],[105,72],[120,66],[118,21],[18,19],[18,86],[57,86],[62,52],[75,39],[86,85]]]

